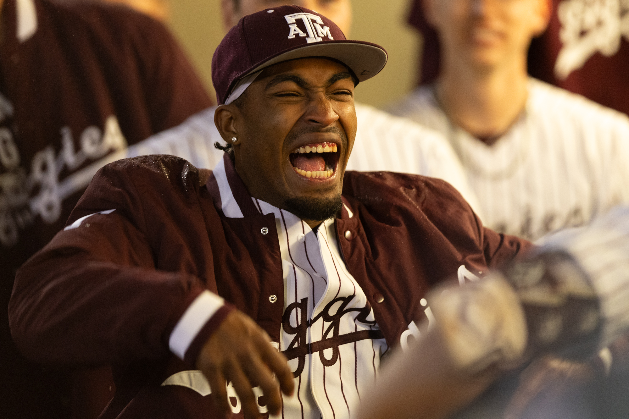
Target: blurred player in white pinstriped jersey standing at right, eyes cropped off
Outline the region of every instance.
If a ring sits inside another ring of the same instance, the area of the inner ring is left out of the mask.
[[[629,119],[526,74],[550,0],[416,0],[423,86],[389,108],[440,131],[483,221],[537,239],[629,202]]]

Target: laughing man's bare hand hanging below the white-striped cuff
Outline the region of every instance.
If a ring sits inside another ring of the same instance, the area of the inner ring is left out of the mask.
[[[245,418],[262,416],[253,387],[262,388],[267,407],[274,415],[282,408],[280,388],[284,394],[292,395],[294,381],[286,357],[269,342],[264,330],[247,315],[234,310],[203,345],[197,368],[207,377],[214,405],[223,415],[230,413],[226,381],[233,384]]]

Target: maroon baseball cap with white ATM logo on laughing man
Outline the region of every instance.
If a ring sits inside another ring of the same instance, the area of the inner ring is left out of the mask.
[[[345,39],[338,26],[322,14],[299,6],[265,9],[244,16],[216,48],[212,58],[216,101],[224,104],[247,75],[305,57],[338,60],[359,82],[374,77],[387,62],[384,48]]]

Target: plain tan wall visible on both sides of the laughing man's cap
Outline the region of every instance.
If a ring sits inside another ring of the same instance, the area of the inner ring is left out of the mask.
[[[169,26],[213,95],[212,54],[223,38],[218,0],[168,0]],[[361,84],[357,101],[381,107],[403,96],[417,79],[420,36],[406,24],[409,0],[352,0],[350,38],[386,48],[389,62],[381,74]]]

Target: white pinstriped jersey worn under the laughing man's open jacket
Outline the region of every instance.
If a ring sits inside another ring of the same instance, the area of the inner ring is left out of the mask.
[[[213,173],[223,213],[242,218],[223,160]],[[276,216],[285,304],[279,350],[303,350],[293,359],[285,352],[296,374],[296,392],[292,398],[284,396],[277,417],[348,418],[359,404],[360,392],[374,382],[387,350],[384,338],[365,338],[369,331],[379,330],[367,296],[345,267],[332,219],[313,232],[288,211],[252,199],[261,213]],[[317,351],[321,347],[326,349]]]

